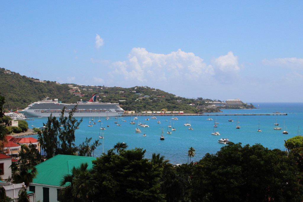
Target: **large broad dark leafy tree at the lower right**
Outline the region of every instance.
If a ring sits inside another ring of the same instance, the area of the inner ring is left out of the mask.
[[[293,161],[260,144],[228,143],[195,164],[194,201],[302,201],[302,176]]]

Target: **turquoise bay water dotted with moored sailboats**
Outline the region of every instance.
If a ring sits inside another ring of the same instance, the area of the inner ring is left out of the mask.
[[[172,134],[166,134],[167,126],[169,124],[170,116],[159,117],[159,119],[150,119],[151,116],[138,117],[139,122],[146,123],[149,127],[139,127],[142,133],[135,133],[137,125],[129,124],[130,117],[119,117],[118,123],[121,126],[114,124],[117,121],[115,118],[109,120],[102,119],[104,130],[104,139],[100,139],[103,145],[95,150],[95,156],[100,156],[104,147],[104,151],[111,149],[117,142],[125,142],[128,144],[128,149],[135,147],[142,147],[146,149],[146,158],[151,158],[152,153],[160,153],[171,161],[172,164],[187,163],[188,147],[194,147],[196,155],[192,161],[200,160],[206,153],[215,154],[223,144],[218,143],[218,139],[228,138],[230,141],[242,145],[260,143],[269,149],[281,149],[285,151],[284,140],[297,135],[298,126],[302,125],[303,120],[303,103],[253,103],[258,109],[242,109],[242,110],[222,110],[222,114],[266,114],[273,112],[287,113],[284,115],[271,116],[211,116],[213,121],[206,120],[207,116],[177,116],[178,120],[174,121],[176,131]],[[149,121],[145,121],[149,118]],[[214,130],[214,120],[218,122],[218,131],[220,135],[211,135]],[[234,121],[229,122],[232,118]],[[240,122],[240,129],[236,129],[236,122]],[[258,122],[260,118],[260,129],[262,132],[257,132]],[[282,127],[282,130],[274,130],[274,123],[276,121]],[[121,121],[122,119],[127,122]],[[165,121],[165,120],[168,121]],[[85,137],[92,137],[93,140],[99,139],[100,122],[97,122],[98,117],[95,117],[97,125],[88,127],[89,118],[83,118],[80,129],[76,131],[76,145],[79,145],[85,140]],[[157,121],[161,121],[158,124]],[[47,118],[35,118],[34,121],[28,121],[28,125],[35,125],[36,127],[43,126]],[[136,120],[138,121],[138,120]],[[184,126],[186,122],[191,123],[194,130],[188,130]],[[285,127],[288,134],[282,134]],[[173,124],[171,120],[171,125]],[[110,127],[106,127],[110,125]],[[161,141],[161,128],[164,130],[165,140]],[[303,126],[302,126],[303,128]],[[303,129],[302,129],[303,130]],[[146,133],[146,137],[142,135]],[[101,131],[102,134],[102,131]],[[32,136],[37,138],[37,136]]]

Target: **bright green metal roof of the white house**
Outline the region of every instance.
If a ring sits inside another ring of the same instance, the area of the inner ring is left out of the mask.
[[[35,166],[38,170],[38,175],[33,180],[33,183],[60,186],[63,175],[71,174],[74,166],[79,167],[82,163],[88,163],[88,168],[91,168],[92,160],[96,160],[96,158],[56,155]]]

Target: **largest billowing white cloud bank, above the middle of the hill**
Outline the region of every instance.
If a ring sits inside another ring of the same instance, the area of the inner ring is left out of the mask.
[[[148,52],[145,48],[133,48],[128,60],[112,63],[111,75],[123,75],[125,80],[140,82],[167,82],[178,80],[198,81],[214,75],[211,65],[194,53],[178,51],[169,54]]]

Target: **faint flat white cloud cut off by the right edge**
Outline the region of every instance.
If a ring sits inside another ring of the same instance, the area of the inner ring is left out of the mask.
[[[272,60],[264,59],[262,60],[262,64],[267,66],[287,67],[294,70],[299,70],[303,68],[303,59],[302,58],[275,58]]]

